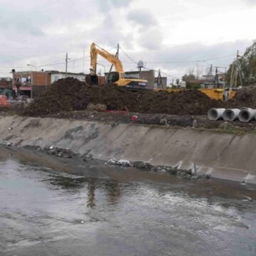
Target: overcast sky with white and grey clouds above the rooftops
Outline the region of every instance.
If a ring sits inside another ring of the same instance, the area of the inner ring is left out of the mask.
[[[255,24],[256,0],[0,0],[0,75],[28,63],[65,70],[65,53],[70,72],[88,73],[90,58],[78,59],[90,55],[92,42],[106,49],[119,43],[127,71],[142,60],[174,77],[193,67],[206,72],[243,53],[256,39]]]

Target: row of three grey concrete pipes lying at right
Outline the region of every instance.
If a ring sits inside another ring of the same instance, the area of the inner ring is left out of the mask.
[[[256,110],[248,107],[242,107],[241,109],[212,108],[208,111],[208,119],[213,121],[224,119],[229,122],[239,119],[240,122],[250,122],[256,119]]]

